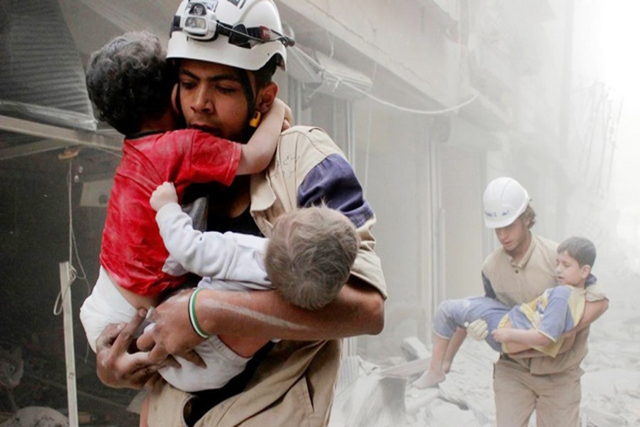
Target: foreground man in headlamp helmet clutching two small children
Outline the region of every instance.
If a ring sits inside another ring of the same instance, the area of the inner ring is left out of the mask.
[[[291,44],[271,0],[183,1],[167,57],[178,62],[176,105],[188,127],[246,142],[252,119],[259,122],[277,96],[272,75],[284,66]],[[185,416],[196,426],[325,425],[339,366],[338,339],[377,334],[384,319],[385,282],[370,233],[375,216],[351,165],[323,131],[292,127],[282,133],[265,172],[212,187],[208,197],[208,229],[267,237],[285,212],[324,202],[356,226],[358,255],[346,285],[319,310],[295,307],[274,291],[201,290],[193,311],[205,334],[282,341],[250,379],[227,394],[194,399],[159,381],[151,392],[149,425],[182,425]],[[188,315],[192,292],[179,292],[156,307],[155,327],[138,340],[149,354],[125,353],[130,330],[119,335],[112,328],[98,339],[105,384],[140,386],[168,354],[193,359],[192,349],[203,338],[193,332]]]

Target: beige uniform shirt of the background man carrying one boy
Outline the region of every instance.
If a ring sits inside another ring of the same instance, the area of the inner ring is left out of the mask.
[[[546,288],[556,285],[555,267],[558,243],[532,233],[528,251],[518,263],[506,254],[503,248],[498,248],[484,261],[482,273],[491,283],[496,298],[507,305],[521,305],[534,300]],[[592,285],[597,286],[597,285]],[[587,301],[604,298],[604,292],[594,297],[587,288]],[[587,354],[587,337],[589,328],[577,332],[575,342],[567,352],[557,357],[534,357],[531,359],[516,359],[530,370],[531,374],[555,374],[578,367]]]

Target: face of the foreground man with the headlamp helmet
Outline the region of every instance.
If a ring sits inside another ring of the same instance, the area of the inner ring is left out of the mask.
[[[181,61],[178,80],[180,105],[188,127],[243,142],[240,138],[247,125],[248,109],[238,70],[185,59]]]

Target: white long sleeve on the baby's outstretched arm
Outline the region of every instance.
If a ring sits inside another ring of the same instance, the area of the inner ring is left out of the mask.
[[[241,233],[203,233],[193,228],[180,205],[156,214],[164,246],[178,263],[200,276],[269,285],[265,270],[267,239]]]

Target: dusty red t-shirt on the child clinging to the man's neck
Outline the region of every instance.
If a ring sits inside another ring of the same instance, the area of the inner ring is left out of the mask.
[[[149,197],[171,181],[182,200],[188,184],[218,181],[229,185],[238,172],[242,147],[198,130],[176,130],[124,139],[114,176],[100,263],[112,280],[139,295],[155,295],[184,283],[162,272],[169,256]]]

